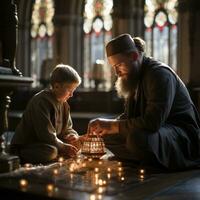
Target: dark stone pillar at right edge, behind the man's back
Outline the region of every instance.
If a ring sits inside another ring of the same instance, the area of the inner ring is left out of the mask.
[[[189,87],[200,86],[200,1],[179,0],[178,74]]]

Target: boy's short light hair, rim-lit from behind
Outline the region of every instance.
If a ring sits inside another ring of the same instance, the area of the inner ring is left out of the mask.
[[[71,66],[59,64],[50,75],[50,84],[53,86],[55,83],[77,83],[80,85],[81,77]]]

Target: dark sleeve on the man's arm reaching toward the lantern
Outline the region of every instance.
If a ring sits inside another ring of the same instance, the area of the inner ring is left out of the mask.
[[[168,69],[163,70],[153,71],[145,78],[144,112],[136,118],[119,120],[120,133],[130,133],[134,128],[156,132],[165,123],[176,92],[176,78]]]

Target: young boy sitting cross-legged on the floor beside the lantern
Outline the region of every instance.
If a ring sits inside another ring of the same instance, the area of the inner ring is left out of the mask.
[[[72,67],[59,64],[51,73],[51,88],[30,100],[11,141],[11,152],[23,163],[47,163],[58,155],[76,155],[80,137],[72,128],[67,100],[80,83]]]

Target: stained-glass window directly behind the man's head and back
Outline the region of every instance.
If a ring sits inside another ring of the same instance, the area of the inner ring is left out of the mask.
[[[145,0],[147,55],[177,67],[177,0]]]

